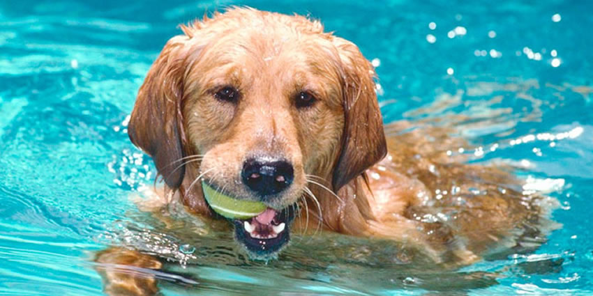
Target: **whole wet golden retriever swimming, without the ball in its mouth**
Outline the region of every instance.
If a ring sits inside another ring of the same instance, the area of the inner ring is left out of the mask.
[[[320,22],[231,8],[181,30],[140,88],[130,139],[152,157],[167,201],[200,219],[224,219],[203,184],[263,202],[256,217],[228,219],[250,258],[276,258],[295,230],[322,228],[459,266],[539,231],[541,198],[500,167],[446,153],[466,143],[445,128],[384,127],[373,66]],[[157,293],[153,277],[109,266],[158,269],[158,258],[112,248],[96,261],[108,293]]]

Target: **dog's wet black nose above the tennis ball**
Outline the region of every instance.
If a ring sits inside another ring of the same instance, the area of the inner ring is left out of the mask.
[[[292,184],[292,164],[284,160],[275,162],[262,159],[247,159],[241,171],[243,183],[258,195],[270,196],[283,191]]]

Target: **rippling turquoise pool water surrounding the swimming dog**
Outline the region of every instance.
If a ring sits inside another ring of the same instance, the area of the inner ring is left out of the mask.
[[[132,242],[168,254],[165,295],[590,295],[593,6],[532,2],[1,2],[0,295],[102,295],[92,252]],[[297,237],[265,264],[188,239],[204,227],[188,217],[160,232],[129,198],[154,169],[126,118],[177,24],[230,4],[320,18],[377,65],[386,122],[456,127],[458,152],[517,166],[564,226],[534,254],[446,272],[386,266],[390,246],[351,237]]]

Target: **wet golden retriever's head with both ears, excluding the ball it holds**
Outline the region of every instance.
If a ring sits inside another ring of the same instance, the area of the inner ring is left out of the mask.
[[[386,153],[373,68],[306,17],[234,8],[182,29],[140,88],[130,139],[197,212],[211,211],[202,184],[263,202],[233,222],[269,258],[310,178],[337,192]]]

